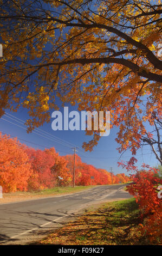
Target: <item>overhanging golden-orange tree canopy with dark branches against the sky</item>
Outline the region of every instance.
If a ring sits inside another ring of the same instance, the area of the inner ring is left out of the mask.
[[[119,151],[132,154],[161,120],[160,1],[0,1],[1,116],[28,108],[28,131],[50,121],[55,99],[111,111]],[[100,136],[83,143],[92,150]],[[158,144],[158,147],[161,144]],[[160,160],[160,156],[158,160]]]

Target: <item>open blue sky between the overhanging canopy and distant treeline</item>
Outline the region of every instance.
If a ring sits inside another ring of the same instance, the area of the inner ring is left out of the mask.
[[[69,112],[72,110],[76,110],[76,108],[69,107]],[[51,113],[52,112],[53,111],[51,111]],[[63,108],[61,109],[61,112],[63,112]],[[87,136],[85,131],[54,131],[51,129],[51,123],[53,121],[51,118],[50,123],[46,123],[39,128],[41,130],[28,134],[26,126],[23,125],[25,120],[29,118],[26,109],[20,108],[15,113],[9,111],[6,111],[6,113],[9,113],[10,115],[7,114],[8,117],[4,115],[2,119],[0,119],[0,131],[18,137],[18,140],[21,143],[42,150],[44,148],[55,147],[60,155],[73,154],[72,148],[76,146],[79,147],[77,154],[81,157],[83,162],[93,164],[96,168],[103,168],[108,171],[110,167],[113,167],[114,174],[126,173],[125,169],[118,167],[117,162],[119,160],[128,161],[131,157],[131,151],[126,151],[126,153],[121,156],[121,154],[118,153],[118,150],[116,150],[118,147],[118,144],[115,142],[116,133],[118,132],[116,127],[111,129],[109,136],[101,137],[98,145],[91,153],[89,153],[89,151],[85,152],[82,149],[82,143],[85,141],[88,142],[91,139],[91,136]],[[142,163],[150,164],[150,166],[157,166],[158,164],[158,161],[155,159],[154,154],[151,153],[149,146],[139,149],[136,158],[138,159],[138,166]]]

